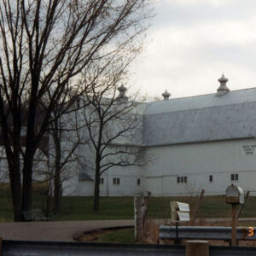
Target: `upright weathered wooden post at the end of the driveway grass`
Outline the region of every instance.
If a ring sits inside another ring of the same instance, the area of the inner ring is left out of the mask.
[[[141,195],[134,196],[134,221],[135,221],[135,241],[143,241],[143,197]]]

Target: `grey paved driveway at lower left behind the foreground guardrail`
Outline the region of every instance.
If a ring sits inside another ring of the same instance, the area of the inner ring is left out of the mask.
[[[0,237],[21,241],[74,241],[73,236],[84,231],[131,225],[134,225],[133,219],[7,222],[0,223]]]

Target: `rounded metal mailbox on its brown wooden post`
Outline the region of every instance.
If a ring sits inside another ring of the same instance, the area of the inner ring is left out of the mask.
[[[232,205],[232,236],[231,245],[236,246],[236,226],[237,226],[237,205],[244,204],[244,192],[240,187],[232,184],[226,189],[226,202]]]

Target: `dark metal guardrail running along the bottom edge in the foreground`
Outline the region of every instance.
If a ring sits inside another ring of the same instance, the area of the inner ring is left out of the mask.
[[[183,245],[109,244],[49,241],[3,241],[3,256],[168,255],[184,256]],[[256,247],[209,247],[210,256],[253,256]]]

